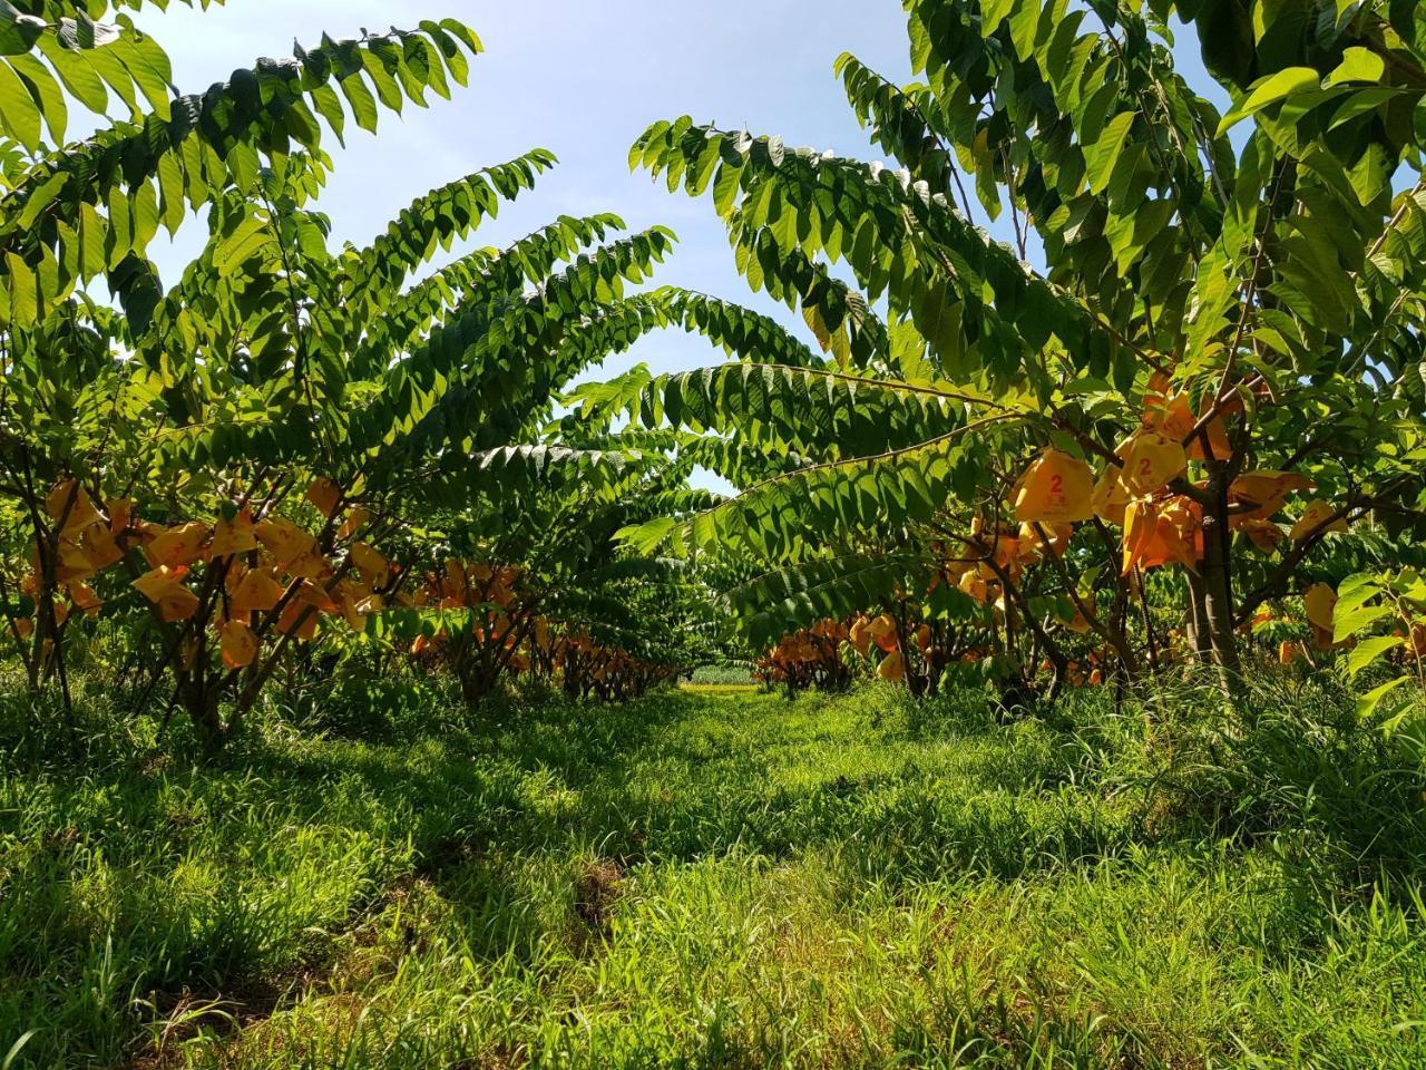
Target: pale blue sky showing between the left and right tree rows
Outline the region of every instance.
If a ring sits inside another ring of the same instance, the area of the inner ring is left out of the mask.
[[[331,146],[337,171],[321,207],[339,238],[365,241],[432,185],[539,146],[560,167],[482,228],[479,244],[502,245],[560,213],[615,211],[635,228],[662,223],[680,241],[659,282],[787,322],[796,318],[752,294],[733,270],[712,204],[630,174],[629,146],[649,123],[687,113],[870,157],[831,64],[853,51],[888,77],[910,77],[897,0],[228,0],[207,13],[150,13],[140,24],[168,51],[178,88],[194,91],[258,56],[289,54],[294,37],[311,44],[322,31],[354,36],[445,16],[471,26],[486,53],[452,101],[384,116],[379,136],[355,131],[345,150]],[[180,268],[191,241],[157,251],[165,274]],[[704,341],[665,332],[603,372],[716,360]]]

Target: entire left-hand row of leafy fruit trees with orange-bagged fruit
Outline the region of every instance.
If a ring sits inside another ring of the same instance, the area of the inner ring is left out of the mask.
[[[620,698],[696,658],[697,581],[613,541],[710,504],[692,462],[553,421],[572,378],[702,307],[625,292],[673,235],[595,214],[471,250],[555,165],[535,150],[338,245],[324,146],[449,97],[476,36],[324,39],[180,96],[104,7],[0,4],[0,602],[29,686],[67,705],[76,636],[118,629],[143,692],[217,743],[344,635],[471,700],[520,669]],[[76,101],[128,114],[67,143]],[[163,281],[150,244],[200,213]]]

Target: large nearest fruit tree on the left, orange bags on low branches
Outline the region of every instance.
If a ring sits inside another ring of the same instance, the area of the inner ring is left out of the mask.
[[[56,53],[53,70],[108,70],[130,36]],[[68,703],[68,629],[123,615],[155,651],[144,691],[167,681],[168,709],[218,743],[325,629],[364,631],[416,598],[431,548],[412,534],[431,518],[515,511],[508,526],[538,554],[550,531],[522,511],[540,494],[572,502],[655,464],[545,428],[573,377],[673,315],[623,292],[669,231],[562,217],[432,270],[553,165],[543,150],[432,190],[368,245],[334,247],[317,208],[327,134],[448,96],[478,50],[449,21],[324,39],[87,141],[6,157],[0,595],[31,688],[57,679]],[[165,287],[144,253],[190,210],[208,240]],[[100,282],[118,308],[88,295]]]

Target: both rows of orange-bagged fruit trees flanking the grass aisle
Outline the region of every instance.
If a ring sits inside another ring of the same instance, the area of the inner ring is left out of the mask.
[[[1426,16],[906,7],[921,81],[837,63],[897,167],[690,118],[630,154],[712,194],[804,342],[629,292],[662,228],[469,250],[545,151],[332,243],[324,143],[463,84],[458,23],[183,97],[101,4],[9,4],[0,601],[30,686],[67,695],[97,615],[214,740],[338,621],[471,699],[526,666],[612,698],[697,659],[704,585],[771,675],[830,686],[847,652],[918,693],[968,663],[1015,696],[1175,662],[1232,691],[1245,661],[1346,646],[1396,666],[1369,702],[1420,678]],[[128,116],[66,143],[76,100]],[[148,245],[200,211],[165,285]],[[1002,217],[1014,245],[980,225]],[[729,362],[560,397],[672,325]],[[690,491],[694,467],[740,494]]]

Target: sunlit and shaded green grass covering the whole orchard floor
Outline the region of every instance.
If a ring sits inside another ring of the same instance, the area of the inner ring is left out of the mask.
[[[0,1066],[1426,1064],[1419,749],[1212,706],[670,692],[210,768],[11,732]]]

